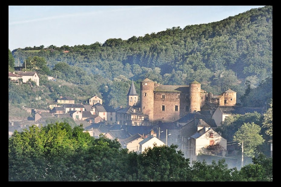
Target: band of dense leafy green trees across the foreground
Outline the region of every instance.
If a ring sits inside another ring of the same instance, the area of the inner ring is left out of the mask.
[[[53,123],[9,138],[9,181],[272,181],[272,158],[255,156],[237,170],[224,159],[189,161],[176,145],[154,146],[143,153],[122,149],[117,139],[99,138]]]

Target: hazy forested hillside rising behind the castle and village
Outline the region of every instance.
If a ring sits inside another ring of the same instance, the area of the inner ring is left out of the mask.
[[[93,41],[91,45],[19,48],[12,51],[12,56],[15,66],[19,59],[23,65],[26,61],[27,69],[39,71],[44,87],[30,92],[45,103],[59,95],[90,97],[99,93],[105,105],[125,105],[131,80],[139,91],[140,81],[148,77],[159,84],[173,85],[196,80],[213,94],[230,88],[237,92],[238,103],[263,107],[272,98],[272,11],[272,6],[265,6],[218,22],[184,28],[175,25],[128,40],[109,38],[104,44]],[[38,68],[35,59],[48,68]],[[49,83],[45,75],[75,86]],[[10,92],[17,89],[9,84]],[[22,96],[28,95],[10,92],[9,102],[14,104],[24,103]],[[257,102],[252,101],[253,97]],[[31,106],[39,102],[28,99]]]

